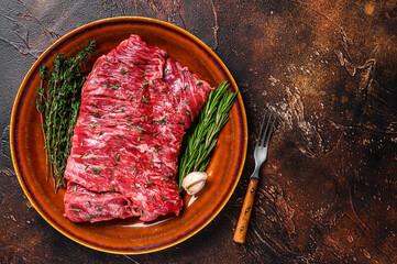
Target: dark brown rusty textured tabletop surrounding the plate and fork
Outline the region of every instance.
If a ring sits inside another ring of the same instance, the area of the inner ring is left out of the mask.
[[[0,2],[0,263],[397,263],[397,2]],[[65,33],[140,15],[202,40],[234,76],[249,120],[242,179],[220,215],[172,249],[113,255],[79,245],[30,205],[10,158],[13,100]],[[245,245],[232,235],[265,107],[282,117]]]

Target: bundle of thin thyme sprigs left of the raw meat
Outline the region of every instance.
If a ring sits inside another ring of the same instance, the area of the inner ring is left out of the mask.
[[[95,41],[89,41],[76,57],[62,59],[63,54],[58,53],[53,62],[52,72],[47,73],[46,65],[40,68],[41,86],[37,87],[36,108],[41,113],[44,148],[47,155],[47,182],[51,174],[55,193],[60,186],[66,185],[64,173],[80,109],[81,88],[86,80],[81,68],[92,54],[93,47]]]

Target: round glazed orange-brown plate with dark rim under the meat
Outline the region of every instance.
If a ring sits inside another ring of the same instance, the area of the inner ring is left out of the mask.
[[[239,182],[247,141],[245,110],[239,95],[207,169],[208,183],[197,197],[184,197],[185,208],[179,217],[167,216],[150,223],[131,218],[93,224],[73,223],[64,218],[65,190],[54,194],[53,184],[45,179],[44,141],[40,116],[35,109],[35,89],[40,86],[38,68],[42,64],[51,66],[58,52],[65,56],[75,55],[88,40],[96,40],[97,43],[89,62],[92,65],[100,55],[114,48],[131,33],[167,51],[170,57],[187,65],[212,86],[228,80],[232,90],[238,89],[219,57],[188,32],[153,19],[113,18],[84,25],[45,51],[24,78],[11,118],[11,151],[15,172],[24,193],[40,215],[60,233],[78,243],[123,254],[166,249],[206,227],[227,204]]]

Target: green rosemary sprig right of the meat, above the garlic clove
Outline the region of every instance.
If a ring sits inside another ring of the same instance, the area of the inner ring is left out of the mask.
[[[217,145],[218,135],[229,120],[229,110],[239,91],[229,92],[229,84],[223,81],[212,90],[200,111],[198,124],[188,138],[188,144],[179,164],[179,189],[186,175],[205,172],[210,154]]]

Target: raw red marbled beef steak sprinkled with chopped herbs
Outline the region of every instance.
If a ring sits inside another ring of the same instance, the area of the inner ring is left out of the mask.
[[[139,35],[99,57],[81,91],[65,216],[74,222],[178,216],[181,140],[211,89]]]

